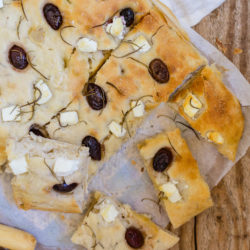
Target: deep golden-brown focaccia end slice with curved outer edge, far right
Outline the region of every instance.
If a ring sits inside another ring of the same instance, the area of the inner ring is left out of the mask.
[[[205,67],[172,99],[177,110],[220,153],[235,160],[244,130],[237,98],[227,89],[215,67]]]

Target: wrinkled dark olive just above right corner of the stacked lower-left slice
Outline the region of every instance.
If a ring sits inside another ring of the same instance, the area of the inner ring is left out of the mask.
[[[93,160],[100,161],[102,157],[101,144],[93,136],[86,136],[82,145],[89,148],[89,155]]]

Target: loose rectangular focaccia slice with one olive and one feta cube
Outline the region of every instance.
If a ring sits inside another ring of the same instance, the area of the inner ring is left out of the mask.
[[[179,129],[146,139],[138,148],[174,228],[212,206],[209,187]]]

